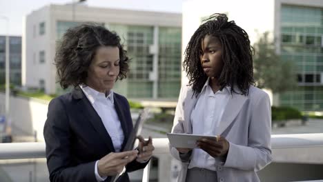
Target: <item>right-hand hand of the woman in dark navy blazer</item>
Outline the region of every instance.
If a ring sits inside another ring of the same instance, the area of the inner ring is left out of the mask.
[[[149,136],[148,141],[145,141],[145,139],[140,135],[137,136],[137,139],[139,139],[139,154],[136,160],[139,163],[144,163],[150,159],[150,157],[153,155],[153,150],[155,150],[155,147],[153,146],[153,139],[151,136]]]

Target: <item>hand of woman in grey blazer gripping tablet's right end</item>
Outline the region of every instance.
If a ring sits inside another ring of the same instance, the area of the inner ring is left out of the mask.
[[[229,143],[220,136],[219,141],[211,137],[203,137],[197,141],[197,146],[213,157],[226,156],[228,154]]]

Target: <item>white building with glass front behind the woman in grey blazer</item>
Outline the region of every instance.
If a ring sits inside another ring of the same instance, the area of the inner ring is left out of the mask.
[[[215,12],[227,14],[229,20],[244,28],[251,44],[269,32],[282,61],[297,65],[293,70],[297,74],[297,88],[275,95],[269,92],[273,105],[304,111],[323,110],[323,1],[186,1],[182,49],[202,20]],[[183,82],[187,81],[185,75],[182,74]]]

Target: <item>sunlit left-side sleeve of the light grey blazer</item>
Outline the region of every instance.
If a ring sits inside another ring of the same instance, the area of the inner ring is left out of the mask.
[[[175,117],[173,121],[173,129],[172,133],[185,133],[184,129],[184,98],[186,97],[186,86],[182,86],[181,91],[179,92],[179,98],[177,101],[176,105],[176,110],[175,110]],[[179,154],[178,150],[170,145],[169,145],[169,150],[170,154],[175,157],[175,159],[182,161],[184,163],[188,163],[190,161],[190,156],[192,152],[188,152],[188,154]]]

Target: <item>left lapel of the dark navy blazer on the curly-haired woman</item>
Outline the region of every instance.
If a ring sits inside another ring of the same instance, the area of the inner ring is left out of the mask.
[[[111,137],[106,131],[106,128],[104,127],[101,118],[93,108],[90,101],[88,101],[81,88],[75,88],[75,90],[72,91],[72,94],[75,99],[80,99],[77,103],[77,108],[82,114],[86,116],[86,122],[89,121],[93,125],[93,127],[101,137],[102,141],[106,143],[110,151],[115,152],[115,147],[113,146]]]

